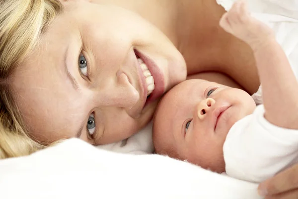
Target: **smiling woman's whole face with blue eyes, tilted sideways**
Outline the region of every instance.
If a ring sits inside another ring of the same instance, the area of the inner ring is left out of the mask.
[[[185,78],[182,55],[153,25],[120,7],[77,0],[17,69],[13,86],[36,139],[105,144],[144,127],[160,96]]]

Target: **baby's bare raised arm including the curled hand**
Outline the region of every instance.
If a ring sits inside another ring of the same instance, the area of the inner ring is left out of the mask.
[[[242,0],[224,14],[220,25],[250,45],[254,52],[265,118],[274,125],[298,129],[298,82],[271,28],[250,16]]]

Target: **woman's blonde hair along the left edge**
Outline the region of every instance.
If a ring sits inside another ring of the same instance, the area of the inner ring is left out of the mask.
[[[26,130],[10,80],[62,10],[58,0],[0,1],[0,159],[28,155],[45,147]]]

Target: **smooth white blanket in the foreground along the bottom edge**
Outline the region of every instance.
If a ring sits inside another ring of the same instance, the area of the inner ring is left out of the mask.
[[[0,162],[0,199],[258,199],[256,189],[187,162],[98,150],[76,138]]]

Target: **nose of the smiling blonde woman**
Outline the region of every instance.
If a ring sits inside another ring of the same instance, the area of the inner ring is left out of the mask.
[[[99,89],[96,97],[98,106],[116,106],[132,108],[140,99],[139,92],[129,82],[124,74],[117,74],[115,80],[105,82],[104,88]]]

